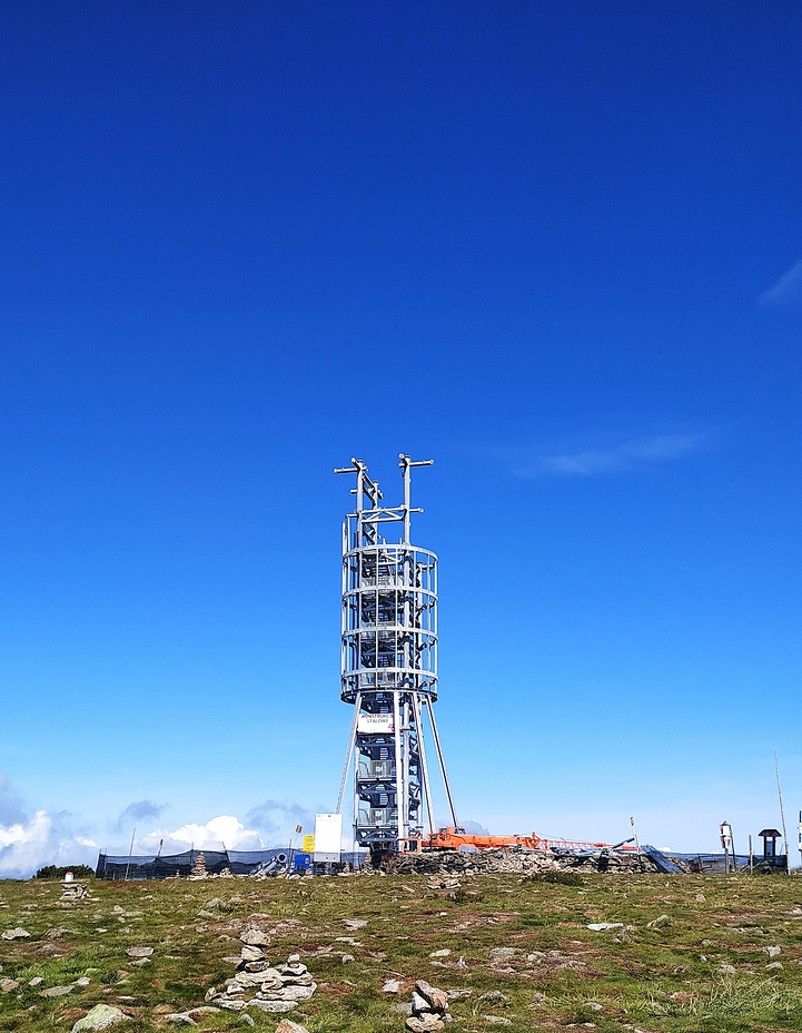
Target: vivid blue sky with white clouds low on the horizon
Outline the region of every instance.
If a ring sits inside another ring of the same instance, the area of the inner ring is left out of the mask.
[[[793,832],[799,6],[2,20],[0,872],[334,806],[400,451],[462,818]]]

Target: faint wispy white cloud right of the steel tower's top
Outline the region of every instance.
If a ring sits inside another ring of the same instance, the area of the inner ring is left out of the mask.
[[[650,434],[620,441],[605,441],[588,447],[587,440],[563,441],[551,447],[527,450],[518,453],[513,463],[513,473],[519,478],[543,476],[593,476],[603,473],[637,471],[671,460],[682,459],[699,450],[707,439],[706,431]]]

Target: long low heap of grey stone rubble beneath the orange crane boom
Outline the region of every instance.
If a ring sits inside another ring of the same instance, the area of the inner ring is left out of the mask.
[[[546,872],[628,874],[659,870],[651,857],[634,850],[597,850],[583,854],[561,854],[552,850],[437,850],[430,854],[394,854],[383,862],[382,868],[398,875],[535,875]]]

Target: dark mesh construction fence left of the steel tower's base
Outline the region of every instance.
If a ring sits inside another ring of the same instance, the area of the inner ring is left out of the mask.
[[[307,870],[314,867],[309,854],[288,847],[269,850],[185,850],[181,854],[148,854],[146,856],[115,856],[100,854],[96,868],[97,878],[152,879],[188,876],[202,855],[209,875],[230,872],[231,875],[278,874],[288,869]],[[340,865],[362,867],[364,853],[344,853]]]

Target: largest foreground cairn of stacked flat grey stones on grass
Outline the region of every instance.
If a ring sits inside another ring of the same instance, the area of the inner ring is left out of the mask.
[[[226,980],[225,990],[209,987],[207,1003],[230,1012],[241,1012],[246,1007],[289,1012],[313,996],[317,984],[301,964],[299,954],[290,954],[286,965],[273,966],[263,951],[270,942],[266,933],[249,926],[239,938],[242,948],[236,958],[237,973]]]

